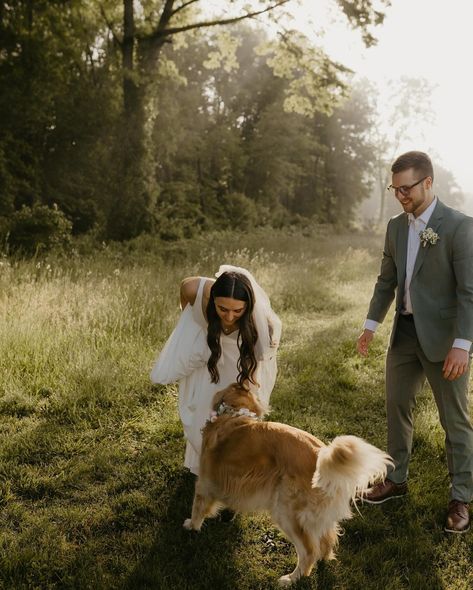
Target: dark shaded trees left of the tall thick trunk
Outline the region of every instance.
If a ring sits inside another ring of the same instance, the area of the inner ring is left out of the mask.
[[[0,216],[56,203],[85,231],[105,209],[117,111],[93,3],[1,7]]]

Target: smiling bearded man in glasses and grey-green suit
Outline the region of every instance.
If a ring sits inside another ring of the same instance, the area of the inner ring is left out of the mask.
[[[380,504],[407,493],[412,412],[427,378],[445,431],[451,500],[445,530],[469,529],[473,498],[473,428],[468,413],[473,341],[473,218],[434,196],[432,162],[407,152],[391,167],[389,189],[404,213],[390,219],[381,271],[358,338],[365,356],[396,299],[386,359],[388,453],[394,468],[364,500]]]

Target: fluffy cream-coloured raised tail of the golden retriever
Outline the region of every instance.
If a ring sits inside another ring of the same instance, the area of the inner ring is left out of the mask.
[[[337,436],[319,451],[312,487],[330,497],[355,498],[371,483],[384,479],[389,465],[389,455],[361,438]]]

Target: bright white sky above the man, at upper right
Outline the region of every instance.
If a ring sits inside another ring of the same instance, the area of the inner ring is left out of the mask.
[[[370,49],[346,19],[331,22],[330,1],[301,0],[294,28],[308,32],[310,20],[324,24],[329,55],[380,84],[402,75],[429,80],[436,87],[431,96],[435,124],[402,151],[430,151],[465,192],[473,193],[473,1],[392,0],[383,25],[374,30],[378,44]]]

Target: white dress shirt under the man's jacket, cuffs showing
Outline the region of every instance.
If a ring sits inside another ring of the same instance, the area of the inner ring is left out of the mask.
[[[414,272],[414,265],[417,258],[417,253],[419,252],[420,247],[420,232],[422,232],[429,223],[429,219],[437,205],[437,197],[434,198],[432,203],[427,207],[427,209],[419,215],[419,217],[414,217],[412,213],[407,214],[407,219],[409,222],[409,233],[407,238],[407,261],[406,261],[406,283],[404,286],[404,298],[403,304],[404,309],[401,311],[403,314],[412,314],[412,302],[411,302],[411,294],[410,294],[410,286],[412,280],[412,273]],[[379,322],[375,320],[366,319],[364,328],[366,330],[371,330],[375,332],[377,327],[379,326]],[[455,338],[452,348],[462,348],[463,350],[470,350],[471,342],[469,340],[464,340],[462,338]]]

